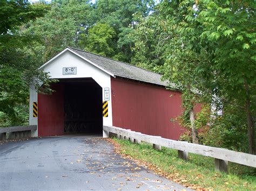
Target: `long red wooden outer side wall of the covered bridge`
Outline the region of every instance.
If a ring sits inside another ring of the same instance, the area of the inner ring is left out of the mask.
[[[180,92],[113,77],[111,91],[114,126],[174,140],[185,131],[170,121],[181,115]]]

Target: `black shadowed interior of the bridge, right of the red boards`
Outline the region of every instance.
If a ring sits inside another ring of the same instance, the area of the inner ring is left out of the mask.
[[[93,79],[66,79],[64,83],[64,132],[102,133],[102,87]]]

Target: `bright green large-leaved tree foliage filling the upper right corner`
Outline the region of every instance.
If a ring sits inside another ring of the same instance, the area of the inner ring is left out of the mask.
[[[254,89],[254,6],[251,1],[234,1],[230,4],[200,1],[198,5],[194,1],[163,1],[160,5],[166,18],[174,16],[173,24],[176,24],[179,41],[183,43],[183,47],[178,46],[178,49],[184,51],[185,48],[198,54],[193,58],[205,58],[194,66],[195,70],[191,70],[191,73],[195,75],[190,77],[203,75],[203,83],[199,81],[201,86],[211,88],[218,97],[229,94],[231,98],[245,100],[245,81]],[[246,36],[243,40],[242,34]],[[251,42],[250,48],[245,45],[248,41]]]

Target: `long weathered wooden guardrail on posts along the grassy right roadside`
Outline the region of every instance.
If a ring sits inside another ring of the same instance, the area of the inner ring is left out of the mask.
[[[158,150],[161,149],[161,146],[176,149],[178,150],[178,157],[185,160],[188,159],[188,152],[212,157],[215,159],[215,170],[217,171],[227,172],[228,161],[256,168],[256,155],[253,154],[145,135],[115,126],[103,126],[104,137],[109,137],[110,132],[116,134],[118,138],[130,140],[132,143],[140,143],[141,141],[151,143]]]

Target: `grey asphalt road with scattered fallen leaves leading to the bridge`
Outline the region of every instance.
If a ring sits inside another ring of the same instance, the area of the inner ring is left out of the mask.
[[[0,169],[0,190],[186,189],[121,158],[111,143],[93,136],[3,143]]]

